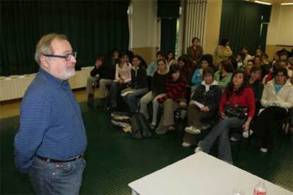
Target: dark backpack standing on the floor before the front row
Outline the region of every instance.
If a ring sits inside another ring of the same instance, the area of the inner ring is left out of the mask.
[[[132,134],[134,138],[146,138],[151,136],[151,131],[149,124],[144,117],[144,114],[135,113],[130,119],[130,124],[132,126]]]

